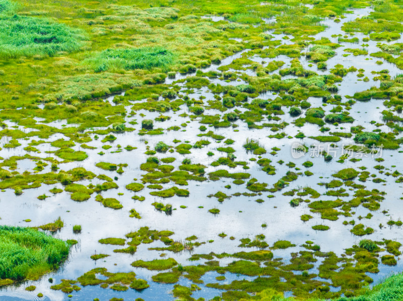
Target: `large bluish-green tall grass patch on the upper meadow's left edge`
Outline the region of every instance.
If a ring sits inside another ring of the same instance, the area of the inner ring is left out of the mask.
[[[0,58],[6,59],[73,52],[85,39],[80,30],[42,18],[0,14],[0,28]]]

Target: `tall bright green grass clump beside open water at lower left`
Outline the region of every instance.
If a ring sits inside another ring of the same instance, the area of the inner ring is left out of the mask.
[[[66,242],[31,228],[0,226],[0,279],[38,278],[69,255]]]

